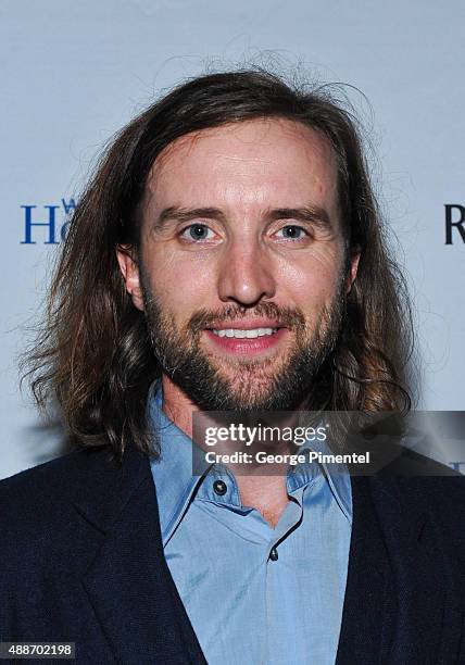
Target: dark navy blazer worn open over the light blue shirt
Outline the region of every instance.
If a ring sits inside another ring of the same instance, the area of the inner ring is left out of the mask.
[[[352,478],[338,665],[465,663],[464,482]],[[147,457],[79,451],[0,482],[0,641],[73,641],[79,664],[205,663]]]

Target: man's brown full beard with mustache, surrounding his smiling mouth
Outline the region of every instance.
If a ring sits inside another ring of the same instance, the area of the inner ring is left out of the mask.
[[[342,328],[344,279],[339,279],[329,305],[310,327],[298,309],[273,302],[221,311],[199,310],[179,327],[173,315],[151,293],[141,275],[147,328],[162,372],[203,411],[288,411],[307,401],[318,372],[331,354]],[[288,328],[287,349],[261,360],[225,359],[208,354],[201,346],[202,331],[218,322],[265,316]],[[306,404],[306,407],[310,407]]]

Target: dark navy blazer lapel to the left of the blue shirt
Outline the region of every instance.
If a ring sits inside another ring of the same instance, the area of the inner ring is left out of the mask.
[[[205,663],[163,555],[155,490],[135,451],[106,472],[101,503],[76,502],[104,534],[83,579],[115,657],[123,663]]]

